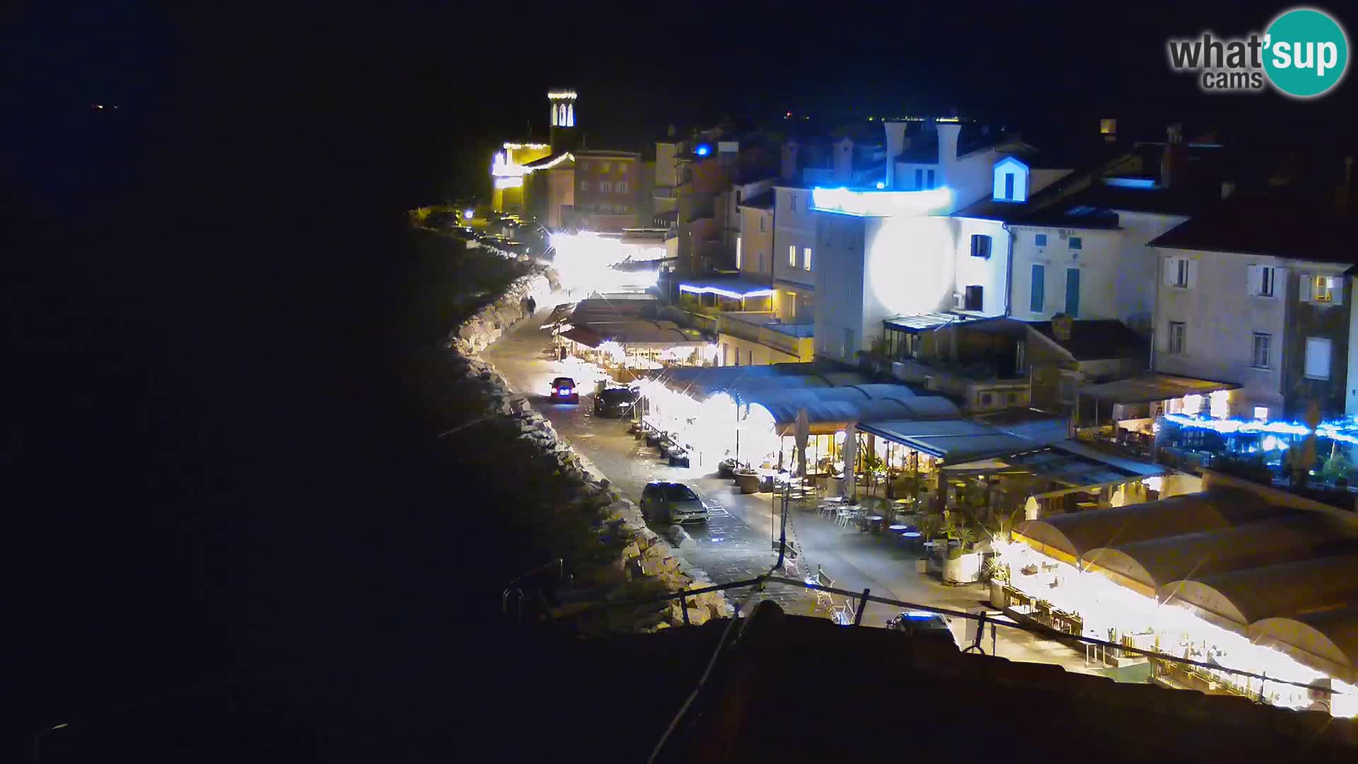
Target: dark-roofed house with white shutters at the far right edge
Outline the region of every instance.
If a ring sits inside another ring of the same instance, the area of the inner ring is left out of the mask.
[[[1291,201],[1232,198],[1150,242],[1160,254],[1156,371],[1237,386],[1202,413],[1300,420],[1313,401],[1335,417],[1354,397],[1346,220],[1324,203]],[[1186,404],[1190,413],[1202,405]]]

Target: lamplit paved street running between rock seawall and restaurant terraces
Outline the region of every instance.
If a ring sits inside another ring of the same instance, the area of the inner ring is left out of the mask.
[[[564,302],[564,298],[557,302]],[[592,392],[600,379],[596,367],[574,359],[557,360],[549,352],[550,337],[540,326],[554,305],[546,300],[539,303],[531,319],[511,329],[482,358],[494,364],[515,392],[527,396],[551,420],[557,432],[629,499],[640,500],[642,487],[650,480],[690,485],[712,508],[712,518],[705,525],[686,527],[695,548],[686,546],[683,555],[713,580],[725,583],[767,572],[777,560],[773,551],[777,515],[770,495],[741,495],[731,480],[701,469],[669,466],[656,455],[655,449],[627,432],[627,420],[595,416]],[[584,390],[579,405],[549,400],[555,377],[570,377]],[[986,600],[982,585],[947,586],[915,572],[915,555],[895,544],[894,538],[845,529],[808,510],[793,510],[788,526],[789,538],[796,538],[804,551],[801,575],[808,572],[808,567],[815,571],[820,566],[841,589],[870,589],[872,594],[881,597],[959,610],[982,606]],[[789,612],[830,614],[816,605],[812,593],[800,587],[773,585],[763,595],[778,601]],[[834,600],[837,605],[843,604],[839,597]],[[881,627],[896,612],[888,605],[869,604],[862,613],[862,624]],[[960,642],[966,624],[955,619],[952,628]],[[989,633],[983,646],[989,654]],[[998,629],[997,651],[1014,661],[1057,663],[1071,672],[1097,673],[1086,669],[1084,658],[1070,648],[1017,629]]]

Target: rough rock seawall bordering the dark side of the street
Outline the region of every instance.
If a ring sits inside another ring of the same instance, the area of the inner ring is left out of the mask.
[[[550,268],[535,271],[512,281],[500,299],[454,330],[448,337],[448,347],[458,353],[460,374],[482,390],[486,413],[511,420],[520,439],[528,440],[547,459],[555,461],[566,477],[565,485],[573,487],[569,488],[573,495],[564,496],[568,504],[581,510],[591,504],[602,507],[603,522],[598,527],[600,544],[606,537],[625,540],[619,559],[608,570],[596,571],[592,579],[614,585],[652,582],[671,593],[712,586],[712,579],[702,570],[684,560],[664,537],[646,525],[641,510],[630,499],[614,489],[589,459],[558,436],[551,421],[535,411],[527,397],[513,393],[493,366],[477,358],[477,353],[527,317],[524,300],[528,296],[545,302],[555,290],[557,279]],[[671,537],[678,544],[686,534],[675,530],[678,526],[671,529]],[[686,600],[689,623],[694,625],[733,612],[721,591],[695,594]],[[629,625],[634,631],[655,631],[683,623],[683,606],[675,601],[659,612],[633,612]]]

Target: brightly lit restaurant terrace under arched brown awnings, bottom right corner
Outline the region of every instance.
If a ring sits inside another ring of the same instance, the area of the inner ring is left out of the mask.
[[[1249,506],[1236,493],[1198,493],[1028,521],[1014,529],[1014,541],[997,540],[994,548],[1014,614],[1073,636],[1219,666],[1152,658],[1158,684],[1262,696],[1287,708],[1313,708],[1320,696],[1334,715],[1355,716],[1358,613],[1346,602],[1358,557],[1313,555],[1308,541],[1319,545],[1336,533],[1358,538],[1351,526],[1325,515]],[[1279,540],[1293,546],[1279,549]],[[1308,625],[1290,610],[1328,616]],[[1100,657],[1115,665],[1142,659],[1118,648]]]

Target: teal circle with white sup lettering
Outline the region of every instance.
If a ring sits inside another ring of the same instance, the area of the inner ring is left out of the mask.
[[[1344,77],[1348,38],[1329,14],[1294,8],[1274,19],[1264,35],[1264,72],[1282,92],[1312,98]]]

